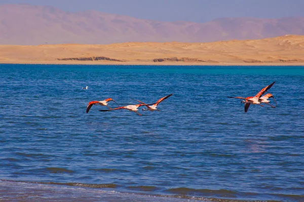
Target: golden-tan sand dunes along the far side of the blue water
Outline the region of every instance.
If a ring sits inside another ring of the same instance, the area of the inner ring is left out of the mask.
[[[207,43],[0,45],[0,63],[303,65],[304,36]]]

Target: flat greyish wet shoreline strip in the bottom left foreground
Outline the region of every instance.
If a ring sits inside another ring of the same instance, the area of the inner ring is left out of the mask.
[[[31,182],[10,182],[0,180],[1,201],[142,201],[183,202],[196,198],[170,195],[149,195],[144,193],[118,192],[113,188],[73,187],[68,185],[39,184]],[[203,197],[200,197],[203,198]],[[200,199],[198,198],[198,199]],[[208,198],[203,198],[208,201]],[[213,201],[219,201],[211,198]],[[226,200],[230,201],[230,200]],[[237,201],[237,200],[234,200]]]

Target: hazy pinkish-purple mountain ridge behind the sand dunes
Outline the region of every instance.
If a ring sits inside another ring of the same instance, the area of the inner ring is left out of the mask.
[[[51,6],[0,5],[0,44],[210,42],[304,35],[304,17],[220,18],[207,23],[161,22]]]

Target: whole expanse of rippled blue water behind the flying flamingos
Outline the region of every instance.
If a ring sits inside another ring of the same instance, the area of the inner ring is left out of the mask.
[[[275,109],[227,98],[273,81]],[[0,64],[0,87],[2,201],[304,201],[304,67]]]

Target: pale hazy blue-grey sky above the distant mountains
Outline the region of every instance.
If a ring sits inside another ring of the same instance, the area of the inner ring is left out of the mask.
[[[49,5],[69,12],[97,10],[160,21],[304,16],[304,0],[0,0],[0,4],[19,3]]]

